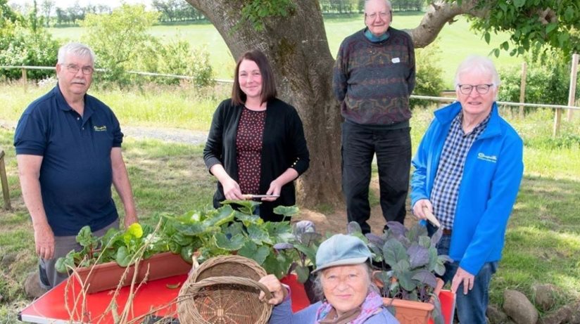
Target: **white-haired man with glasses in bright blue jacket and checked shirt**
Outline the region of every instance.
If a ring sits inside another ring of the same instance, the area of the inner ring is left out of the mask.
[[[489,282],[524,170],[522,138],[498,114],[499,85],[491,60],[463,61],[458,101],[435,112],[412,160],[413,214],[431,212],[441,223],[439,254],[453,259],[443,280],[458,292],[461,323],[486,323]]]

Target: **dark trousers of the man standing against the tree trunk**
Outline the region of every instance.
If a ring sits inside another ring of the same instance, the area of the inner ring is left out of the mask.
[[[359,223],[363,233],[370,232],[369,185],[376,154],[384,219],[403,223],[411,167],[410,127],[370,129],[343,122],[341,153],[348,221]]]

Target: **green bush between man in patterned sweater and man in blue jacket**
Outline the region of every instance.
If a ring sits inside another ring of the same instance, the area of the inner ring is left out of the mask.
[[[415,89],[413,94],[418,96],[439,96],[439,93],[445,89],[443,81],[443,70],[439,67],[439,57],[441,49],[438,42],[434,42],[426,48],[415,49]],[[411,99],[411,108],[422,106],[427,101]]]

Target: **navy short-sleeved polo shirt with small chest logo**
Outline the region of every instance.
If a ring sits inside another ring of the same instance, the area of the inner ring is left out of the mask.
[[[99,231],[118,218],[111,197],[111,148],[122,142],[111,108],[84,96],[84,115],[66,103],[58,84],[32,102],[18,121],[16,154],[40,155],[40,188],[54,235]]]

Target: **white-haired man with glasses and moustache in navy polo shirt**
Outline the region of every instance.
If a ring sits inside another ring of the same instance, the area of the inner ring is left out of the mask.
[[[137,221],[119,122],[107,105],[87,95],[93,72],[89,47],[61,47],[58,84],[28,106],[14,135],[20,185],[40,257],[40,285],[46,289],[67,278],[54,264],[70,250],[80,250],[75,236],[83,226],[91,226],[96,235],[119,226],[111,183],[125,207],[125,227]]]

